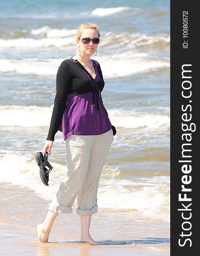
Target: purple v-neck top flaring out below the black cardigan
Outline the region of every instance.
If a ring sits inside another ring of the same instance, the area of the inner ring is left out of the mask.
[[[97,62],[92,59],[90,60],[93,62],[94,69],[96,69],[95,80],[98,81],[99,73]],[[86,74],[86,76],[88,75]],[[92,86],[94,86],[93,83]],[[96,97],[99,97],[99,110],[97,110],[97,107],[93,107],[92,97],[92,92],[83,94],[69,93],[67,95],[66,108],[62,120],[64,140],[71,134],[99,135],[109,131],[112,128],[108,113],[100,96],[97,96],[95,93],[95,102],[97,102]]]

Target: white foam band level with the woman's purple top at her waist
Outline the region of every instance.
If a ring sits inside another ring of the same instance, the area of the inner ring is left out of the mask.
[[[51,107],[1,105],[0,125],[39,127],[49,126],[53,105]],[[123,128],[169,128],[170,117],[164,114],[138,113],[109,109],[109,119],[116,127]]]

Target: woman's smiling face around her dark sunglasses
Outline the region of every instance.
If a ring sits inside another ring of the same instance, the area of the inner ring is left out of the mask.
[[[90,41],[89,44],[83,44],[82,41],[81,41],[81,38],[91,38],[91,39],[98,38],[97,30],[95,30],[95,29],[83,29],[80,40],[77,41],[77,44],[80,46],[81,54],[92,55],[94,52],[96,52],[96,50],[98,48],[98,44],[93,44],[92,41]]]

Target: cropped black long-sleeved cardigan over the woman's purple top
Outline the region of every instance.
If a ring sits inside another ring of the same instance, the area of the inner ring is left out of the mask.
[[[98,71],[100,79],[97,82],[100,91],[103,90],[104,80],[100,64]],[[63,113],[66,108],[68,93],[88,93],[92,90],[91,80],[83,70],[74,62],[73,59],[66,59],[60,64],[56,76],[56,96],[54,99],[54,108],[51,116],[49,133],[46,140],[54,141],[54,136],[60,128],[63,119]]]

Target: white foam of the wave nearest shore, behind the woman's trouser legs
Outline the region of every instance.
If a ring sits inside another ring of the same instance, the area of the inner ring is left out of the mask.
[[[7,152],[0,158],[0,182],[25,186],[35,191],[35,194],[43,199],[51,200],[61,181],[66,177],[66,166],[49,162],[53,166],[50,174],[49,187],[45,186],[39,174],[39,167],[34,156],[28,158]],[[149,177],[148,182],[137,178],[131,180],[119,179],[119,170],[110,172],[109,166],[103,167],[98,189],[98,206],[113,210],[138,210],[147,218],[169,221],[169,179],[160,178],[162,182],[156,182],[154,177]],[[139,186],[139,187],[138,187]],[[76,201],[75,201],[76,204]]]

